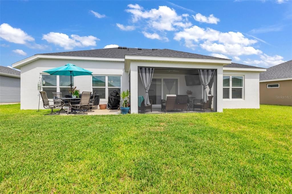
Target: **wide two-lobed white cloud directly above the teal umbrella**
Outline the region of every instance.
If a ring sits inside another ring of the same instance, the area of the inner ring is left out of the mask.
[[[72,50],[74,47],[96,46],[96,40],[100,39],[95,36],[78,36],[75,34],[72,34],[70,38],[67,34],[50,32],[44,34],[42,40],[63,47],[65,50]]]

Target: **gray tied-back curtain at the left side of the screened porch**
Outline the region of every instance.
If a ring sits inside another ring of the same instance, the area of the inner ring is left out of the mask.
[[[150,89],[151,80],[154,73],[154,68],[150,67],[139,67],[140,77],[142,80],[142,84],[145,88],[145,105],[150,104],[148,90]]]

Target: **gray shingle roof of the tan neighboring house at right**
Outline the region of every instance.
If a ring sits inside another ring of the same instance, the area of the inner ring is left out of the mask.
[[[292,77],[292,60],[267,68],[260,73],[260,80],[275,80]]]

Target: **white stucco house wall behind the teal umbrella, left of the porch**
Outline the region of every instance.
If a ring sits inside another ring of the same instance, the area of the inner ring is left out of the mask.
[[[75,64],[93,72],[93,75],[121,75],[121,90],[128,89],[128,73],[124,72],[124,62],[117,61],[82,61],[62,59],[39,59],[21,67],[21,109],[38,109],[39,91],[37,83],[41,73],[45,70],[63,66],[67,63]],[[92,91],[91,76],[74,77],[74,85],[82,91]],[[106,104],[107,100],[100,100],[100,104]],[[40,108],[43,108],[42,101]]]

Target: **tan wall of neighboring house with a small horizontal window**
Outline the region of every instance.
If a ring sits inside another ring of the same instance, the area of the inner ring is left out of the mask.
[[[279,84],[267,88],[267,84]],[[260,82],[260,104],[292,105],[292,80]]]

